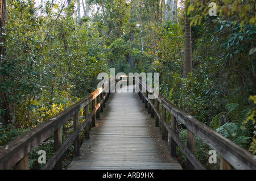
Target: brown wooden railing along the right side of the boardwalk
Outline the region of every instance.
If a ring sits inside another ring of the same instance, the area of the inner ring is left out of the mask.
[[[233,141],[228,140],[213,129],[210,129],[207,125],[195,119],[195,117],[169,102],[162,95],[155,94],[155,90],[149,89],[141,81],[141,78],[135,78],[135,85],[139,88],[138,94],[142,102],[145,103],[148,113],[151,113],[151,117],[155,115],[155,125],[159,126],[160,121],[162,138],[165,140],[167,133],[171,135],[171,156],[176,157],[176,147],[179,146],[180,150],[187,157],[187,169],[205,169],[194,155],[195,135],[220,155],[220,169],[232,169],[232,166],[234,169],[256,169],[255,155],[236,145]],[[152,94],[155,95],[156,99],[148,99],[148,95],[151,92],[153,92]],[[162,104],[161,113],[159,111],[160,104]],[[166,123],[166,111],[171,113],[171,124]],[[177,134],[177,121],[180,121],[187,128],[187,145],[181,141]]]

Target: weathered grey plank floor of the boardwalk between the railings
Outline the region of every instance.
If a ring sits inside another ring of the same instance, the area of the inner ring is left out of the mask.
[[[133,89],[133,87],[130,87]],[[68,169],[181,169],[137,93],[114,93]]]

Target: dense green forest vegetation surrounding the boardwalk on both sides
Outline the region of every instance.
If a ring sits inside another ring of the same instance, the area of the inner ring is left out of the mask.
[[[44,1],[42,8],[30,0],[8,0],[0,146],[92,92],[97,74],[115,68],[158,72],[159,90],[168,100],[256,154],[255,2],[219,1],[217,16],[209,16],[208,1],[180,1],[175,20],[165,17],[166,3],[90,0],[88,16],[80,12],[87,11],[85,1]],[[188,78],[184,7],[192,22]],[[197,141],[196,151],[206,149]]]

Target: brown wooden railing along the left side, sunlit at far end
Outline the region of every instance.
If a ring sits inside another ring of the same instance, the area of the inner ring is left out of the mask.
[[[97,89],[92,94],[85,96],[79,102],[68,107],[63,112],[60,112],[57,116],[44,121],[38,127],[31,129],[22,136],[16,138],[16,140],[10,142],[4,148],[0,149],[0,169],[11,169],[15,166],[15,169],[25,170],[28,167],[28,153],[34,150],[36,146],[40,145],[43,141],[47,140],[52,134],[54,134],[54,146],[55,154],[47,161],[42,169],[62,169],[61,157],[73,143],[74,154],[79,155],[79,133],[85,129],[85,138],[89,138],[89,123],[92,119],[92,127],[95,127],[96,117],[100,115],[100,111],[103,111],[105,102],[110,95],[110,81],[115,81],[113,78],[105,82],[104,88]],[[92,104],[91,111],[89,112],[89,104]],[[79,125],[79,112],[84,108],[85,117],[84,121]],[[62,143],[61,140],[61,126],[73,117],[74,131],[68,139]]]

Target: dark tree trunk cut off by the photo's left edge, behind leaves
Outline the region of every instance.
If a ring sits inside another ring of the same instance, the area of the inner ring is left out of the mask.
[[[5,34],[5,24],[6,24],[6,0],[0,0],[0,35]],[[3,47],[5,43],[5,38],[0,36],[0,66],[3,64],[3,58],[6,56],[6,49]],[[5,75],[0,74],[1,82],[5,81]],[[9,117],[8,102],[7,102],[7,92],[0,92],[0,123],[3,125],[7,124]]]

